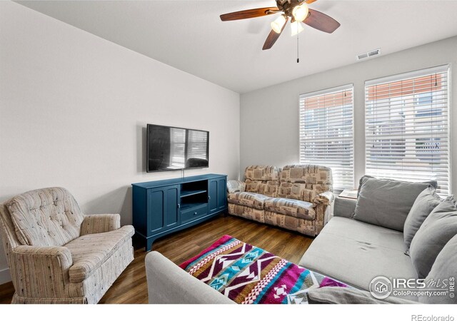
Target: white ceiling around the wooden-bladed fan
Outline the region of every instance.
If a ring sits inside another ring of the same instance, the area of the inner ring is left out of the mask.
[[[296,63],[290,27],[261,50],[275,16],[219,19],[274,0],[19,3],[238,93],[355,63],[356,54],[379,47],[386,55],[457,35],[457,1],[318,0],[310,8],[341,27],[326,34],[305,26]]]

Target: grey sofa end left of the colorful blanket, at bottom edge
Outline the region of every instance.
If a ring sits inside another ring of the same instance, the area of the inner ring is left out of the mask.
[[[159,252],[149,252],[145,261],[149,303],[235,303],[181,269]]]

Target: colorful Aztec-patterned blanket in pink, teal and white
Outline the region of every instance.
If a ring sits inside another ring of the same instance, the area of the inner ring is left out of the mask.
[[[308,303],[308,290],[348,286],[230,235],[179,266],[241,304]]]

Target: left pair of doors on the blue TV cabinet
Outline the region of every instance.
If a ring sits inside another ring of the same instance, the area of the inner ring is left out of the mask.
[[[149,235],[179,225],[179,185],[148,190]]]

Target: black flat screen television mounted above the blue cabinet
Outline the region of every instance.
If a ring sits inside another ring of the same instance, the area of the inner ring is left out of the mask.
[[[209,131],[148,124],[146,171],[209,166]]]

